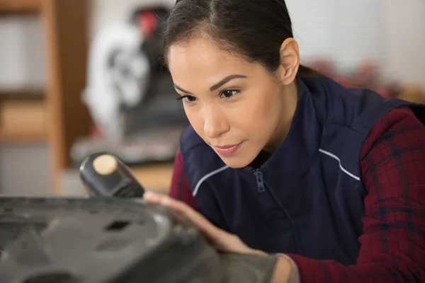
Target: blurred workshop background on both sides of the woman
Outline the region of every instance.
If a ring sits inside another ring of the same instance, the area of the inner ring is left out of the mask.
[[[346,86],[425,100],[425,1],[286,0],[302,62]],[[81,195],[112,151],[166,192],[188,125],[159,62],[174,0],[0,0],[0,193]]]

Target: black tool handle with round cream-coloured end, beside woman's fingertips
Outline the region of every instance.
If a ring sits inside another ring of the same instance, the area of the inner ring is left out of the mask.
[[[123,161],[108,152],[87,156],[79,168],[80,178],[91,195],[99,197],[143,197],[140,185]]]

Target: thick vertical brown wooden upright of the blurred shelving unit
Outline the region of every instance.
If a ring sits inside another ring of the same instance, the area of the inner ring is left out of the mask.
[[[89,133],[89,111],[81,103],[88,54],[87,0],[42,2],[47,36],[47,108],[53,193],[60,195],[60,176],[71,165],[74,141]]]

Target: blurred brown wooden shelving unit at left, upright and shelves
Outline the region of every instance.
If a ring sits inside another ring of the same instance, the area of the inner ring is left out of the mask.
[[[51,192],[61,195],[60,176],[72,165],[69,151],[79,137],[89,134],[93,121],[81,101],[86,87],[86,64],[89,47],[89,6],[91,0],[0,0],[0,16],[36,13],[42,17],[45,35],[46,81],[43,96],[33,91],[1,91],[0,105],[8,100],[42,100],[46,106],[46,134],[6,134],[0,144],[28,144],[45,141],[49,151]],[[72,44],[69,44],[72,42]],[[1,43],[0,43],[1,45]],[[10,125],[10,124],[9,124]],[[3,129],[6,130],[6,123]],[[14,132],[13,128],[9,128]],[[35,130],[30,129],[30,132]],[[29,132],[29,133],[30,133]],[[40,132],[42,132],[40,130]]]

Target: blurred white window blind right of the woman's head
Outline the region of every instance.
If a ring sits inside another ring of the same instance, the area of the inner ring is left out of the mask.
[[[382,0],[285,1],[303,62],[331,59],[340,71],[382,63]]]

